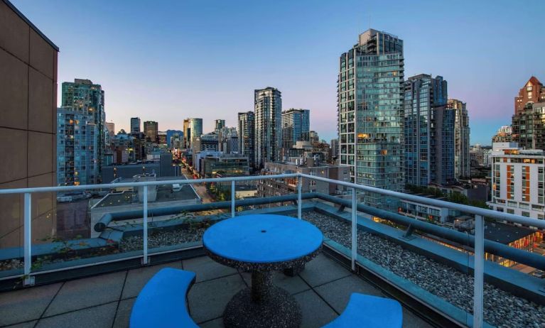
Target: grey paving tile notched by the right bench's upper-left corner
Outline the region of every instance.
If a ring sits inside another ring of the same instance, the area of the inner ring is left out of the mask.
[[[325,285],[320,285],[315,288],[316,292],[323,297],[325,302],[335,309],[335,311],[341,313],[345,310],[348,300],[350,300],[350,294],[362,293],[367,295],[382,296],[384,294],[374,288],[369,283],[365,282],[362,278],[355,275],[350,275],[346,278],[335,280]]]

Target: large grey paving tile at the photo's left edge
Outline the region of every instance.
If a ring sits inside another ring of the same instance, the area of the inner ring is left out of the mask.
[[[0,326],[38,319],[62,283],[0,293]]]

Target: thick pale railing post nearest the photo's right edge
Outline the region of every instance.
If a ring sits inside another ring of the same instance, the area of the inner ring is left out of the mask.
[[[482,269],[485,257],[485,222],[481,215],[475,215],[475,265],[473,266],[473,328],[482,327]]]

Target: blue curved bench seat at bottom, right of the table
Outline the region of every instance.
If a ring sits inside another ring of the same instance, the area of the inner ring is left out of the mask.
[[[352,293],[346,309],[323,328],[401,328],[403,313],[396,300]]]

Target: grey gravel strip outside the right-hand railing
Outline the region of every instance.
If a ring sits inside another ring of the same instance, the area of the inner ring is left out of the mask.
[[[350,248],[350,222],[317,212],[303,213],[325,236]],[[473,277],[409,251],[392,241],[358,231],[357,253],[443,300],[473,312]],[[485,283],[485,321],[497,327],[545,327],[545,307]]]

